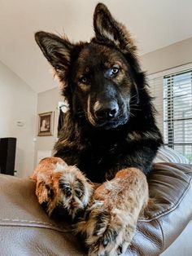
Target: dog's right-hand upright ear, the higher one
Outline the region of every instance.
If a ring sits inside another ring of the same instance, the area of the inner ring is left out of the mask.
[[[94,32],[99,41],[112,42],[121,51],[134,54],[137,50],[129,31],[112,17],[103,3],[98,3],[94,11]]]

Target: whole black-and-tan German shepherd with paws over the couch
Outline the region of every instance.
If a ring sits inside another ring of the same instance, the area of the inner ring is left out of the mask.
[[[67,212],[76,221],[89,255],[115,256],[132,241],[149,199],[146,174],[163,142],[137,48],[103,3],[94,11],[94,32],[76,44],[35,34],[69,108],[55,156],[32,178],[47,214]]]

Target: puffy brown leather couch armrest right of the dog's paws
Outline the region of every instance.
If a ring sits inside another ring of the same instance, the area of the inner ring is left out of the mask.
[[[126,255],[161,254],[192,218],[192,166],[155,164],[148,183],[155,205],[139,219]]]

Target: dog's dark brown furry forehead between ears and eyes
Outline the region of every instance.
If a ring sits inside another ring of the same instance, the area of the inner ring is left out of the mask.
[[[110,68],[118,62],[125,64],[119,51],[94,43],[85,45],[77,61],[81,69],[94,68],[101,65]]]

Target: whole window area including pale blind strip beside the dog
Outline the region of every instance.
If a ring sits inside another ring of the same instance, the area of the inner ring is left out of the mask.
[[[164,143],[192,163],[192,64],[148,76]]]

